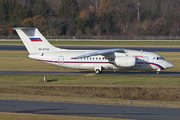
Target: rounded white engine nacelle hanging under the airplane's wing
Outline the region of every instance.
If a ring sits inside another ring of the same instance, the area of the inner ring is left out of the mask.
[[[136,65],[136,57],[117,57],[114,64],[120,67],[134,67]]]

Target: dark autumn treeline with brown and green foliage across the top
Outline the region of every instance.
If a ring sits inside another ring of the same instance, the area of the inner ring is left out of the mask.
[[[0,35],[8,27],[56,35],[179,35],[180,0],[0,0]]]

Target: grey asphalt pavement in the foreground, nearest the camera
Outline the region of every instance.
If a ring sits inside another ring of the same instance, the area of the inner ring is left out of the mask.
[[[180,120],[180,109],[176,108],[15,100],[0,100],[0,112],[105,117],[138,120]]]

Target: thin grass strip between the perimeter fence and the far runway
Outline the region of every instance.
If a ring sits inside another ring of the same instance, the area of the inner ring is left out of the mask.
[[[149,41],[50,41],[55,46],[99,46],[99,47],[180,47],[180,42]],[[0,45],[23,45],[21,41],[0,41]]]

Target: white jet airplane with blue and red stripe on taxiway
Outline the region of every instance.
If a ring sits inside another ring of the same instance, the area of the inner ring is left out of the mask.
[[[28,57],[52,65],[71,69],[94,70],[161,70],[174,67],[162,56],[145,51],[130,49],[68,50],[51,45],[37,28],[15,27]]]

